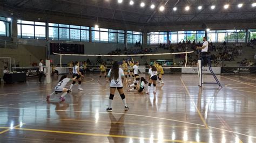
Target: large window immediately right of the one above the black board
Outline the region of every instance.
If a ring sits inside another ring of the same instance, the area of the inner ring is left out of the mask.
[[[124,44],[124,31],[92,27],[92,42]]]

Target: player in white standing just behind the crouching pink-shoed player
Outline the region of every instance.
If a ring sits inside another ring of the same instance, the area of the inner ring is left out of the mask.
[[[73,66],[73,77],[77,77],[77,81],[78,81],[78,90],[84,90],[83,88],[81,88],[81,77],[84,77],[82,75],[82,73],[79,71],[79,62],[76,61],[74,66]],[[72,87],[73,85],[75,85],[76,81],[73,81],[72,84],[70,85],[69,90],[72,91]]]

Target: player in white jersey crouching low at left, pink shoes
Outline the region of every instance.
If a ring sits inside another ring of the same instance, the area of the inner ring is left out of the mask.
[[[63,75],[62,77],[60,77],[59,83],[56,85],[56,87],[54,88],[54,91],[48,95],[46,97],[46,100],[49,101],[50,96],[52,96],[53,94],[58,94],[58,93],[63,93],[59,99],[61,99],[62,101],[65,101],[64,96],[66,94],[68,94],[70,92],[70,90],[66,89],[65,86],[69,81],[75,81],[76,80],[76,76],[74,78],[67,78],[67,75]]]

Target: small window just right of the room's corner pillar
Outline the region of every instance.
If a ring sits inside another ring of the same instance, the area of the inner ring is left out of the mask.
[[[149,32],[147,33],[147,38],[149,38],[147,44],[164,44],[167,43],[167,32]]]

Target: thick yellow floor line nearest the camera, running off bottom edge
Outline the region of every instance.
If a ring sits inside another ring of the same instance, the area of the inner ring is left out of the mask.
[[[143,140],[155,140],[155,141],[168,141],[168,142],[197,142],[197,141],[184,141],[184,140],[170,140],[170,139],[154,139],[154,138],[143,138],[143,137],[132,137],[132,136],[125,136],[125,135],[111,135],[111,134],[96,134],[96,133],[81,133],[81,132],[67,132],[67,131],[53,131],[53,130],[40,130],[40,129],[33,129],[33,128],[20,128],[15,127],[15,130],[23,130],[23,131],[36,131],[36,132],[48,132],[48,133],[63,133],[63,134],[78,134],[78,135],[90,135],[96,137],[113,137],[113,138],[132,138],[132,139],[143,139]],[[198,142],[200,143],[200,142]]]

